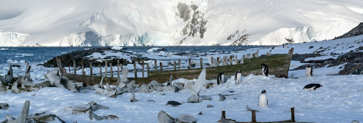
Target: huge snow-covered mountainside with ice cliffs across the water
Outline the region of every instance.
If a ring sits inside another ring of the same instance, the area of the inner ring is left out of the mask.
[[[280,45],[340,36],[360,0],[0,1],[0,46]]]

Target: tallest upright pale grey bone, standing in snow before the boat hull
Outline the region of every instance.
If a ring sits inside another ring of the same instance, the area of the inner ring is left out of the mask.
[[[198,103],[202,101],[202,98],[200,98],[199,96],[199,92],[203,88],[206,74],[207,71],[205,68],[203,68],[203,70],[199,74],[197,82],[190,90],[190,97],[188,98],[188,102]]]

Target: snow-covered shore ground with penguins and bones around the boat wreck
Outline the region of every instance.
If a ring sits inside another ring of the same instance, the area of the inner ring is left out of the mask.
[[[313,53],[314,51],[321,51],[321,57],[306,58],[308,60],[323,60],[327,58],[336,58],[338,55],[330,56],[331,53],[347,53],[351,50],[363,46],[363,36],[355,36],[352,38],[342,38],[338,40],[328,40],[315,42],[306,42],[300,44],[288,44],[289,48],[282,48],[282,46],[274,46],[266,48],[252,48],[236,52],[209,52],[209,53],[197,53],[189,54],[185,56],[176,56],[174,53],[167,52],[148,52],[143,53],[142,56],[148,58],[157,59],[159,62],[163,62],[163,65],[168,65],[174,60],[182,59],[182,69],[187,66],[187,59],[192,58],[192,61],[199,62],[199,58],[203,58],[203,62],[207,63],[204,54],[209,54],[213,57],[237,55],[241,58],[243,54],[254,53],[257,50],[259,54],[265,54],[270,50],[272,54],[287,53],[290,48],[294,48],[294,54]],[[361,43],[358,43],[361,42]],[[310,46],[314,48],[309,49]],[[352,47],[354,46],[354,47]],[[320,49],[322,47],[323,49]],[[150,49],[154,51],[155,49]],[[359,51],[361,52],[361,51]],[[130,58],[130,56],[123,56],[122,54],[113,54],[106,52],[106,56],[124,57]],[[119,56],[117,56],[119,55]],[[160,56],[161,55],[161,56]],[[166,57],[165,57],[166,56]],[[93,57],[101,57],[101,54],[93,54]],[[104,56],[102,56],[104,57]],[[25,73],[25,61],[12,61],[8,62],[21,65],[21,67],[13,67],[14,74]],[[145,61],[150,64],[151,70],[154,68],[154,61]],[[30,72],[31,78],[34,83],[40,83],[45,81],[44,76],[47,70],[53,68],[47,68],[44,66],[37,66],[38,63],[31,63],[32,70]],[[307,63],[300,63],[299,61],[291,61],[290,70],[300,65]],[[10,108],[8,110],[0,110],[0,121],[5,120],[5,114],[11,114],[15,117],[19,116],[21,107],[26,100],[30,101],[30,113],[48,112],[50,114],[56,114],[66,122],[74,122],[77,120],[79,123],[97,122],[97,123],[119,123],[119,122],[158,122],[158,112],[165,111],[170,116],[177,118],[181,114],[189,113],[196,117],[199,123],[215,123],[220,119],[221,111],[226,111],[227,118],[231,118],[240,122],[250,121],[250,112],[245,111],[245,106],[259,110],[257,112],[257,121],[278,121],[290,119],[290,107],[295,107],[295,119],[298,122],[319,122],[319,123],[348,123],[352,120],[363,121],[363,75],[330,75],[338,74],[345,64],[334,67],[320,67],[314,68],[313,77],[306,77],[305,70],[289,71],[289,77],[294,73],[296,79],[282,79],[270,75],[269,77],[261,75],[248,75],[242,78],[240,85],[234,84],[234,76],[228,79],[227,83],[223,85],[216,85],[210,89],[203,89],[200,95],[209,95],[212,99],[202,101],[201,103],[183,103],[178,107],[167,106],[168,101],[187,102],[190,95],[189,89],[181,90],[177,93],[165,91],[166,95],[154,95],[156,91],[152,93],[136,93],[136,99],[139,102],[131,103],[130,93],[126,93],[118,96],[117,98],[109,98],[107,96],[95,94],[95,91],[87,90],[85,94],[75,94],[71,91],[60,89],[56,87],[46,87],[34,92],[12,94],[12,93],[0,93],[0,103],[8,103]],[[183,66],[185,66],[183,68]],[[206,67],[207,65],[204,65]],[[130,70],[133,69],[133,65],[124,65]],[[173,65],[168,65],[166,68],[173,68]],[[196,66],[200,67],[200,66]],[[0,64],[0,75],[5,75],[8,71],[8,66],[5,63]],[[137,65],[138,69],[141,69],[141,65]],[[146,68],[146,67],[145,67]],[[163,67],[165,69],[165,67]],[[105,68],[102,67],[102,70]],[[68,68],[66,68],[68,70]],[[99,67],[93,68],[93,73],[99,73]],[[113,70],[117,70],[117,67],[113,67]],[[73,72],[73,68],[71,67]],[[89,74],[89,68],[85,70]],[[109,71],[109,70],[108,70]],[[208,72],[208,71],[207,71]],[[77,73],[81,73],[81,70],[77,70]],[[147,75],[147,74],[145,74]],[[114,75],[115,76],[115,75]],[[128,77],[133,77],[134,73],[130,72]],[[138,72],[138,77],[141,77],[141,73]],[[177,79],[173,82],[191,82],[194,80],[185,80],[183,78]],[[212,81],[208,81],[212,82]],[[163,83],[163,82],[160,82]],[[309,83],[319,83],[323,85],[315,91],[305,91],[302,88]],[[268,108],[261,108],[257,106],[258,95],[262,90],[266,90],[267,97],[269,99]],[[230,93],[229,91],[234,91]],[[219,95],[217,94],[234,94],[226,96],[225,101],[219,101]],[[147,102],[149,99],[155,102]],[[102,109],[95,111],[95,114],[103,115],[116,115],[119,120],[102,120],[91,121],[88,118],[88,114],[73,115],[71,111],[64,111],[64,107],[76,106],[78,104],[87,104],[90,101],[95,101],[98,104],[109,107],[110,109]],[[211,104],[214,107],[207,108],[207,105]],[[199,112],[203,115],[198,115]],[[59,122],[55,121],[54,123]]]

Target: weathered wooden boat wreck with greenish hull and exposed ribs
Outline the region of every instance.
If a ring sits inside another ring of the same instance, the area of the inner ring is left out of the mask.
[[[270,75],[287,76],[289,67],[290,67],[290,63],[291,63],[291,57],[293,54],[293,50],[294,49],[291,48],[289,50],[288,54],[277,54],[277,55],[270,56],[269,53],[267,53],[267,55],[264,57],[245,58],[243,60],[243,63],[240,63],[240,64],[206,67],[206,69],[207,69],[206,79],[216,79],[217,75],[221,71],[224,71],[224,74],[227,76],[234,75],[236,73],[236,71],[238,71],[238,70],[242,70],[242,75],[244,75],[244,76],[249,75],[249,74],[262,75],[262,71],[261,71],[262,63],[269,66]],[[231,64],[232,64],[232,62],[231,62]],[[156,65],[156,62],[155,62],[155,65]],[[190,59],[189,59],[189,66],[190,66]],[[60,68],[62,68],[62,67],[60,66]],[[148,70],[148,73],[147,73],[148,77],[146,77],[146,78],[128,78],[128,79],[135,80],[136,83],[140,83],[140,84],[149,83],[152,80],[158,81],[160,83],[164,83],[170,79],[170,75],[173,75],[173,79],[178,79],[178,78],[194,79],[194,78],[198,78],[200,71],[202,69],[203,69],[203,66],[201,66],[200,68],[194,68],[194,69],[191,69],[189,67],[188,69],[176,70],[176,67],[174,66],[174,70],[164,70],[164,71],[162,71],[162,69],[160,71],[149,71]],[[99,84],[99,82],[102,79],[102,77],[100,77],[100,76],[65,73],[66,71],[64,68],[62,69],[62,71],[63,72],[61,72],[61,75],[68,77],[70,80],[72,80],[74,82],[83,82],[85,85]],[[110,85],[116,85],[117,80],[118,80],[117,77],[104,77],[103,83],[109,83]]]

